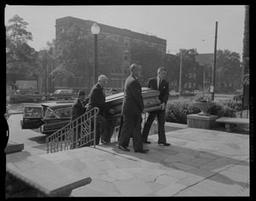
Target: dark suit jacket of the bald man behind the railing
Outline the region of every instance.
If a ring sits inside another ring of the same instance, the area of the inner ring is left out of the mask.
[[[110,107],[106,103],[106,96],[103,93],[103,89],[99,83],[93,86],[90,90],[90,99],[87,109],[90,110],[93,107],[98,107],[100,109],[99,114],[102,116],[105,115],[105,112],[108,112]]]

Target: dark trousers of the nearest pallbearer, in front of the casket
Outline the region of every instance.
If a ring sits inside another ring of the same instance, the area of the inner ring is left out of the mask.
[[[142,121],[142,115],[124,117],[119,146],[128,147],[132,136],[133,149],[135,151],[143,150]]]

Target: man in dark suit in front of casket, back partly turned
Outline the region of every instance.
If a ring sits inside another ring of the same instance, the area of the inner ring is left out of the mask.
[[[143,149],[142,138],[142,113],[144,113],[144,103],[142,87],[137,78],[141,77],[142,66],[132,64],[130,66],[131,75],[125,80],[124,99],[122,114],[124,123],[119,136],[119,149],[129,152],[129,142],[132,136],[134,152],[148,152]]]

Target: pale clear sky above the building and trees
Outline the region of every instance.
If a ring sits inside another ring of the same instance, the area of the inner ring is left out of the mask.
[[[55,20],[72,16],[132,32],[166,39],[166,52],[197,49],[199,54],[214,53],[216,22],[217,49],[242,55],[244,5],[137,5],[137,6],[28,6],[6,5],[5,25],[18,14],[29,25],[37,51],[55,39]]]

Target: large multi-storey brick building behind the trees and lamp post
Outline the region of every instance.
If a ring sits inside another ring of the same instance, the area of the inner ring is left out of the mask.
[[[56,19],[55,20],[55,38],[61,32],[67,32],[72,26],[76,25],[84,28],[84,32],[90,33],[90,27],[94,24],[92,20],[82,20],[78,18],[73,18],[70,16]],[[111,89],[115,88],[119,91],[123,88],[125,79],[130,74],[131,66],[131,47],[134,43],[137,43],[139,40],[148,42],[150,45],[157,47],[160,52],[166,54],[166,39],[162,39],[155,36],[148,36],[146,34],[132,32],[127,29],[117,28],[113,26],[103,25],[97,23],[100,26],[101,32],[99,35],[104,37],[112,36],[119,45],[119,48],[122,51],[121,57],[122,61],[119,66],[107,66],[108,69],[105,69],[104,66],[104,55],[105,52],[98,47],[98,75],[105,74],[108,77],[108,83],[106,88]],[[88,66],[93,66],[93,47],[90,47],[91,51],[89,53]],[[58,83],[55,82],[55,88],[72,88],[74,90],[85,88],[90,91],[90,85],[84,82],[84,72],[78,72],[75,75],[75,78],[70,78],[68,80],[59,80]]]

